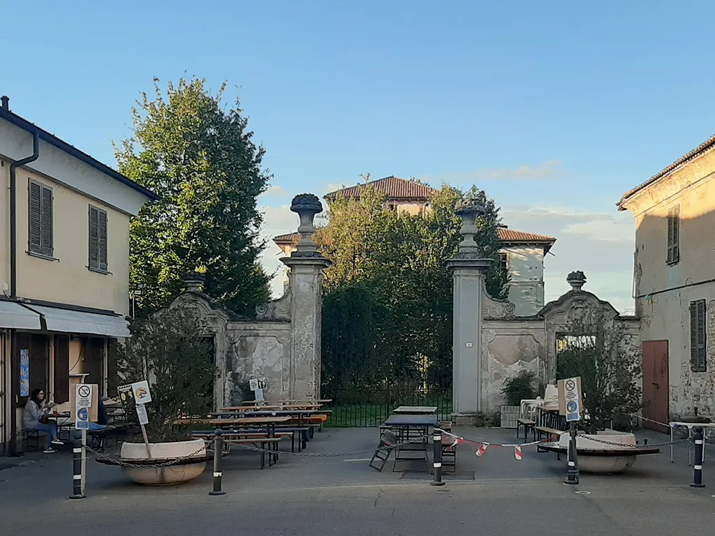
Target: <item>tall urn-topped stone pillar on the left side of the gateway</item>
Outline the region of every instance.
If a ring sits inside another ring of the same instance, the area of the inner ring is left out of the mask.
[[[290,269],[290,398],[303,400],[320,397],[322,271],[330,261],[312,239],[313,219],[322,212],[320,199],[300,194],[290,209],[300,217],[300,242],[290,257],[280,260]]]

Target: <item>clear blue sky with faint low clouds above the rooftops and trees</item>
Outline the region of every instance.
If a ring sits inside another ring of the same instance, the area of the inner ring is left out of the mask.
[[[615,203],[713,134],[715,6],[577,4],[13,2],[0,93],[114,165],[154,76],[226,80],[275,174],[265,233],[295,229],[292,195],[361,173],[476,183],[509,227],[558,239],[547,299],[582,269],[627,309],[634,226]]]

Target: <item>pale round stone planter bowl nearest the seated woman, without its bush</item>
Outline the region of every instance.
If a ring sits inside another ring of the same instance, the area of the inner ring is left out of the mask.
[[[189,455],[199,458],[206,456],[206,446],[203,440],[149,443],[149,448],[152,450],[152,458],[157,460],[172,460]],[[147,447],[144,446],[144,443],[124,443],[122,445],[122,461],[131,463],[132,460],[146,462]],[[169,465],[168,467],[122,467],[124,475],[127,475],[129,480],[145,486],[182,484],[198,477],[205,469],[205,460],[195,463],[183,462],[181,465]]]

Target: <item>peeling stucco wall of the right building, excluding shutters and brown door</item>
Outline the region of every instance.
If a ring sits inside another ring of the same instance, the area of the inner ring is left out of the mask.
[[[623,203],[636,220],[633,259],[641,339],[668,340],[671,417],[715,412],[715,152]],[[669,211],[679,207],[680,259],[666,264]],[[691,372],[690,303],[707,304],[707,372]]]

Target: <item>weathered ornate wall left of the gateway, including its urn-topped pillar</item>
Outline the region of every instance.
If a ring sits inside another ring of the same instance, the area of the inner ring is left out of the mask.
[[[290,283],[280,299],[256,307],[255,318],[239,318],[204,294],[202,278],[192,274],[169,306],[194,309],[204,333],[214,338],[216,407],[251,396],[251,378],[267,380],[266,399],[320,397],[322,271],[330,262],[317,252],[312,234],[322,205],[314,195],[301,194],[291,210],[300,217],[302,240],[291,257],[281,259],[290,267]]]

